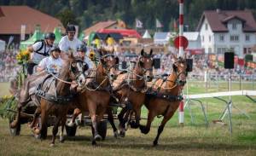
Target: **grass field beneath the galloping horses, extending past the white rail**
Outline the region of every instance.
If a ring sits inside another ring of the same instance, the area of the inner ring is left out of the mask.
[[[218,87],[219,91],[227,90],[227,84]],[[1,94],[7,94],[8,84],[0,84]],[[238,89],[237,84],[233,85]],[[243,90],[252,90],[252,84],[243,84]],[[217,91],[212,84],[207,91]],[[189,94],[204,93],[204,84],[191,82]],[[184,91],[186,93],[186,90]],[[255,97],[254,97],[255,98]],[[226,98],[227,99],[227,98]],[[246,118],[235,108],[232,109],[233,134],[227,125],[212,124],[217,119],[225,105],[214,99],[203,101],[207,108],[209,127],[205,126],[201,107],[191,104],[195,123],[190,121],[188,109],[185,109],[185,126],[179,127],[177,113],[168,122],[160,136],[158,147],[152,147],[157,125],[161,118],[155,118],[153,128],[148,135],[139,130],[128,130],[125,138],[113,138],[112,130],[108,128],[108,136],[104,142],[98,142],[98,147],[90,146],[90,128],[83,127],[77,136],[66,139],[66,142],[56,142],[55,147],[49,147],[49,138],[39,141],[32,137],[26,124],[22,125],[20,136],[9,135],[9,121],[0,119],[0,155],[256,155],[256,105],[244,96],[232,97],[234,105],[245,111],[250,118]],[[143,117],[147,110],[143,108]],[[145,120],[142,121],[145,123]]]

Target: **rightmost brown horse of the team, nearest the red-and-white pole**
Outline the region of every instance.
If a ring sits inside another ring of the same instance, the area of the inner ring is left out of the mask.
[[[154,146],[158,144],[161,132],[166,122],[176,112],[179,102],[183,99],[182,90],[186,83],[187,62],[179,58],[173,64],[173,72],[166,79],[159,79],[154,83],[151,91],[145,97],[145,106],[148,108],[148,121],[146,126],[140,125],[143,134],[148,134],[150,125],[155,116],[162,115],[164,118],[158,128],[154,139]]]

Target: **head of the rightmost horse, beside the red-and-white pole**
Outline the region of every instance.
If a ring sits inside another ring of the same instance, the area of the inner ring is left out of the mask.
[[[173,72],[176,72],[177,79],[176,82],[178,85],[183,86],[186,84],[186,76],[187,76],[187,61],[182,57],[178,59],[174,56],[175,62],[172,65]]]

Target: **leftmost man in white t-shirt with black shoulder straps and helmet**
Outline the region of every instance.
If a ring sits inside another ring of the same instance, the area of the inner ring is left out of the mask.
[[[49,51],[55,42],[55,34],[53,32],[46,33],[44,40],[40,40],[31,46],[27,47],[27,50],[31,52],[31,61],[27,64],[27,73],[32,75],[33,67],[37,66],[40,61],[49,56]]]

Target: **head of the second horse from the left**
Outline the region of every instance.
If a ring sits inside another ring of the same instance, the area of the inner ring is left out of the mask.
[[[116,69],[119,65],[119,58],[113,54],[100,53],[103,74],[108,76],[112,82],[116,77]]]

